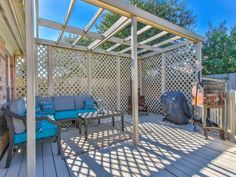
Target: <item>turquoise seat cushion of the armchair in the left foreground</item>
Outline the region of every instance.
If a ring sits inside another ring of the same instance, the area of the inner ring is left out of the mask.
[[[36,139],[43,139],[48,137],[56,136],[57,126],[44,120],[42,121],[42,127],[36,132]],[[14,135],[14,144],[25,143],[26,142],[26,132]]]

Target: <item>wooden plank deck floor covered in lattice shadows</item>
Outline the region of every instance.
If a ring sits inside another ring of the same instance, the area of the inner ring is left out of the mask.
[[[116,131],[106,127],[106,131],[90,131],[88,138],[105,140],[120,133],[119,126]],[[192,131],[191,125],[162,122],[155,114],[141,116],[139,127],[138,146],[126,140],[116,144],[107,141],[111,144],[107,147],[96,143],[95,147],[92,141],[85,142],[72,133],[68,137],[71,143],[63,142],[65,160],[56,154],[56,143],[38,144],[37,176],[236,176],[235,144],[213,137],[205,140],[200,132]],[[126,130],[131,130],[128,123]],[[80,150],[86,146],[87,151],[76,155],[78,146]],[[0,177],[4,176],[26,177],[25,149],[15,152],[10,168],[0,169]]]

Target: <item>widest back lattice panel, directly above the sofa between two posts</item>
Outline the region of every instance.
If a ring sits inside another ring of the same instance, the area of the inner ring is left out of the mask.
[[[53,93],[75,95],[88,92],[88,53],[52,48]]]

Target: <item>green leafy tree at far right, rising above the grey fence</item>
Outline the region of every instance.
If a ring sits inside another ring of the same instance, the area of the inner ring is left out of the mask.
[[[202,52],[203,74],[236,72],[236,26],[229,31],[225,22],[217,27],[209,24]]]

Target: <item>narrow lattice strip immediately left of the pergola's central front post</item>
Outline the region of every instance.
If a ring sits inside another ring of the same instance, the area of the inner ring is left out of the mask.
[[[120,57],[121,110],[128,111],[128,97],[131,95],[131,59]]]

